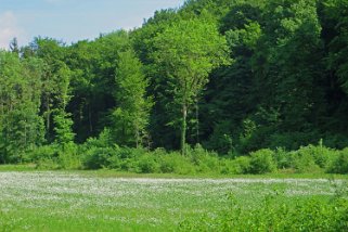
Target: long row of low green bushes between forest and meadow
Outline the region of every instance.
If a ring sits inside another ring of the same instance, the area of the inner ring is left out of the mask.
[[[220,157],[201,145],[188,147],[182,156],[164,149],[120,147],[113,143],[111,130],[82,145],[53,143],[27,152],[26,162],[39,169],[113,169],[136,173],[248,175],[248,173],[347,173],[347,149],[332,150],[319,144],[287,152],[263,149],[249,156]]]

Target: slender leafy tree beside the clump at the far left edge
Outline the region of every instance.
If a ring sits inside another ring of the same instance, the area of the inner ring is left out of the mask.
[[[74,141],[73,120],[66,107],[72,99],[72,70],[65,64],[66,49],[54,39],[35,39],[35,53],[44,63],[42,76],[42,116],[49,142]],[[66,133],[66,134],[65,134]]]

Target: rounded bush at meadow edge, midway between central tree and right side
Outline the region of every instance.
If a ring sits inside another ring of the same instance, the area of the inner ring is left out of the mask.
[[[250,172],[267,173],[275,171],[276,165],[273,156],[274,152],[269,149],[263,149],[250,153]]]

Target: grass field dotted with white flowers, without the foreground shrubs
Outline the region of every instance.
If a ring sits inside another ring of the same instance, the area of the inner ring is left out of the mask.
[[[103,173],[103,172],[102,172]],[[177,231],[215,218],[230,197],[257,208],[333,197],[343,180],[284,178],[121,178],[93,172],[1,171],[0,231]]]

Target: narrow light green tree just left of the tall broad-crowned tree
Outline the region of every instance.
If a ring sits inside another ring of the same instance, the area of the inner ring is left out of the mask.
[[[139,147],[149,136],[151,98],[146,96],[149,81],[142,64],[132,50],[119,53],[116,68],[116,102],[113,113],[116,140],[121,144]]]

